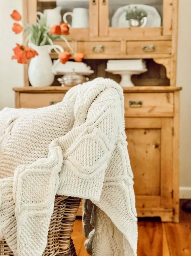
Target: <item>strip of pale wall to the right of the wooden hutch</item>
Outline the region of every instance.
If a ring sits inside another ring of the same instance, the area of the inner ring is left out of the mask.
[[[177,85],[180,109],[180,197],[191,198],[191,23],[190,0],[179,0]]]

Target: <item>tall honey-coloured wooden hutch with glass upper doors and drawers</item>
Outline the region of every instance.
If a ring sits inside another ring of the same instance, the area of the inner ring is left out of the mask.
[[[114,26],[112,17],[124,5],[155,7],[161,26]],[[179,94],[176,87],[178,0],[23,0],[25,21],[36,22],[36,11],[62,6],[61,13],[76,7],[89,9],[89,27],[71,28],[68,40],[84,62],[95,71],[90,76],[110,77],[108,59],[144,59],[148,72],[134,75],[134,87],[124,87],[125,129],[134,173],[138,217],[159,216],[162,221],[179,221]],[[65,42],[56,41],[69,51]],[[56,59],[57,54],[51,53]],[[49,106],[63,99],[70,87],[13,88],[16,107]]]

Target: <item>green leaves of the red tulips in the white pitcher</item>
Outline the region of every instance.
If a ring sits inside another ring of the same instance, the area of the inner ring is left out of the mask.
[[[37,17],[36,24],[28,24],[25,28],[27,33],[26,41],[36,44],[38,46],[51,44],[51,41],[60,39],[59,35],[51,35],[50,29],[47,27],[46,17]]]

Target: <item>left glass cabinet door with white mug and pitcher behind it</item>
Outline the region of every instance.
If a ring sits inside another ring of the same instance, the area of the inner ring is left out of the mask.
[[[36,11],[47,15],[49,27],[68,23],[72,38],[98,36],[98,4],[89,0],[29,0],[29,22],[36,22]],[[32,14],[31,14],[32,13]]]

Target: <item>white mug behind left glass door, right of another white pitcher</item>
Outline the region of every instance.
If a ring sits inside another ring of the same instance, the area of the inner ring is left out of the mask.
[[[68,24],[69,27],[73,28],[84,28],[89,27],[89,11],[86,8],[74,8],[73,12],[66,12],[63,15],[63,21],[67,22],[66,17],[72,16],[72,25]]]

